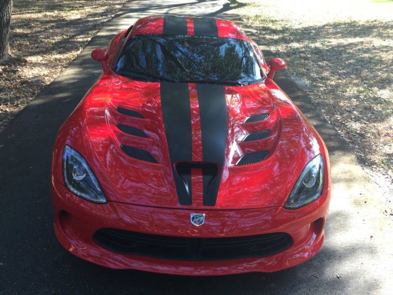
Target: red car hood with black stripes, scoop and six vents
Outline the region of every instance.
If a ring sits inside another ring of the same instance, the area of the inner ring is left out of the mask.
[[[60,133],[109,201],[190,209],[283,206],[323,145],[273,82],[145,83],[113,74]]]

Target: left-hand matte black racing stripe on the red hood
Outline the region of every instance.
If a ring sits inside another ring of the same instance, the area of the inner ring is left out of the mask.
[[[191,129],[191,106],[190,92],[187,83],[161,83],[161,110],[164,117],[164,127],[167,134],[167,142],[171,168],[175,180],[177,196],[180,205],[191,205],[191,175],[183,179],[175,170],[175,163],[181,161],[192,161],[192,129]]]

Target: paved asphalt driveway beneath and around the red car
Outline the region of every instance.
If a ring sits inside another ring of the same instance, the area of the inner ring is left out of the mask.
[[[100,74],[90,52],[105,48],[138,18],[164,13],[242,24],[225,0],[129,1],[0,133],[0,294],[393,294],[386,198],[286,71],[276,74],[276,82],[314,124],[331,155],[333,198],[325,242],[313,259],[271,274],[183,277],[95,266],[60,246],[52,228],[52,148],[58,128]],[[252,30],[247,33],[258,43]],[[262,50],[266,59],[273,57]]]

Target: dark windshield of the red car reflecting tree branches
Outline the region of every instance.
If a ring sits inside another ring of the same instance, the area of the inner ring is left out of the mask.
[[[246,41],[191,35],[132,36],[114,71],[149,82],[249,85],[264,78]]]

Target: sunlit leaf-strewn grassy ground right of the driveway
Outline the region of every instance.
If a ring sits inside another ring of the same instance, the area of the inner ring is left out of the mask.
[[[393,1],[237,3],[358,159],[392,185]]]

